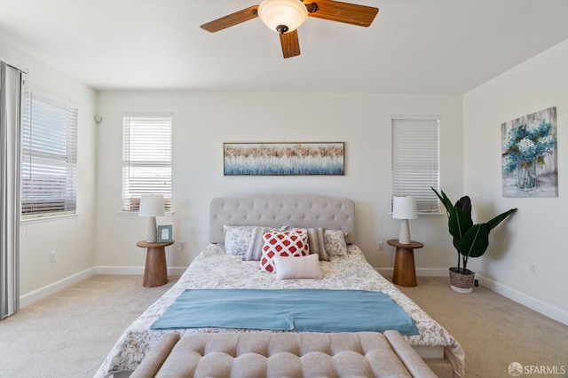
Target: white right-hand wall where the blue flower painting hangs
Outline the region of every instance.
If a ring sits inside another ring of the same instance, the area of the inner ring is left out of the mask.
[[[463,108],[464,187],[479,219],[518,208],[507,224],[492,232],[490,247],[472,268],[486,279],[485,285],[568,324],[566,67],[568,40],[470,91]],[[550,106],[557,111],[558,197],[502,197],[501,123]]]

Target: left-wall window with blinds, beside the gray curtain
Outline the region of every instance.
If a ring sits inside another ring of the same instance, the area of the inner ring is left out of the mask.
[[[28,90],[21,134],[22,218],[75,214],[77,108]]]

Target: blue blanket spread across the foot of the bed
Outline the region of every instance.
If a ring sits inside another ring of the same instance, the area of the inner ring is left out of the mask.
[[[245,328],[418,335],[389,295],[365,290],[187,289],[151,329]]]

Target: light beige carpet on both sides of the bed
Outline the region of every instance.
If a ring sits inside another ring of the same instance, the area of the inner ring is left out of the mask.
[[[124,328],[173,283],[148,288],[138,276],[99,275],[22,309],[0,321],[0,377],[92,377]],[[468,378],[509,377],[512,362],[568,371],[561,323],[484,287],[455,293],[447,278],[400,288],[461,343]]]

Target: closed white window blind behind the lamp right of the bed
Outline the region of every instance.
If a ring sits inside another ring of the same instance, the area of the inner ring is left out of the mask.
[[[414,196],[422,215],[439,214],[439,126],[437,116],[392,116],[392,196]]]

